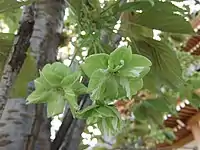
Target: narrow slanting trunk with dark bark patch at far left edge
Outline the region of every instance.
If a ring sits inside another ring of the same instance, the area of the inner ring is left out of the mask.
[[[7,97],[15,79],[26,58],[26,51],[30,45],[30,38],[33,31],[32,7],[24,8],[18,34],[14,39],[12,50],[5,64],[0,82],[0,117],[7,102]]]

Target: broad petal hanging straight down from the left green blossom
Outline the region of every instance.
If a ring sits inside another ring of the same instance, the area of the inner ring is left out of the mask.
[[[63,99],[63,96],[54,93],[52,94],[52,97],[47,102],[47,115],[48,117],[52,117],[58,114],[61,114],[65,107],[65,101]]]

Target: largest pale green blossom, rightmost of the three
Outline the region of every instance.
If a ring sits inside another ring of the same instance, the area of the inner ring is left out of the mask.
[[[90,78],[88,92],[91,98],[108,102],[135,95],[143,87],[142,78],[150,66],[146,57],[132,54],[127,47],[117,48],[110,55],[91,55],[81,65]]]

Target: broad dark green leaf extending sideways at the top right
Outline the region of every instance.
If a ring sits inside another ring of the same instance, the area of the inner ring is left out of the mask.
[[[160,8],[161,6],[163,6],[162,9]],[[159,9],[155,9],[156,7]],[[177,10],[180,10],[180,8],[177,8],[172,4],[157,2],[157,4],[149,11],[137,14],[135,23],[165,32],[182,34],[194,33],[191,24],[186,21],[183,16],[174,13]]]

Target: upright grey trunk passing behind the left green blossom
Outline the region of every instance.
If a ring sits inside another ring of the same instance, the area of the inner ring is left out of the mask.
[[[64,0],[38,0],[35,3],[35,24],[30,40],[32,55],[37,60],[40,70],[47,63],[56,61],[60,33],[63,28],[65,12]],[[49,120],[43,104],[36,105],[35,118],[32,124],[31,136],[28,138],[26,150],[33,150],[38,137],[40,149],[50,149]],[[41,132],[40,132],[41,131]],[[41,134],[39,134],[39,132]]]

